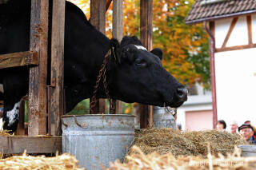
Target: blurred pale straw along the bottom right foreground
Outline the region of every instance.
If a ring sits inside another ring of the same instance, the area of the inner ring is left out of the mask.
[[[140,170],[140,169],[170,169],[170,170],[252,170],[256,167],[256,157],[241,157],[241,151],[236,148],[233,154],[224,157],[212,156],[208,153],[207,159],[200,156],[178,156],[171,153],[160,155],[157,152],[145,155],[138,147],[134,146],[133,154],[127,156],[128,162],[122,164],[116,160],[107,170]]]

